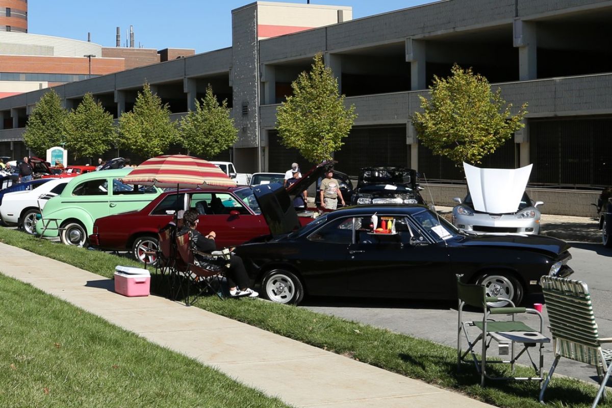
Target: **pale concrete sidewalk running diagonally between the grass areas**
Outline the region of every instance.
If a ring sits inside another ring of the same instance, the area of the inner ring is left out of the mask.
[[[156,296],[118,295],[112,280],[17,247],[0,243],[0,256],[5,275],[296,407],[490,407],[199,308]]]

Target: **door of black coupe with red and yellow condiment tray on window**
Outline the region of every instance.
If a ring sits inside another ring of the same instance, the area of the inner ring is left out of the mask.
[[[355,242],[348,250],[348,287],[355,295],[436,298],[450,272],[446,248],[428,240],[403,215],[378,215],[378,227],[392,221],[395,232],[375,232],[371,217],[356,217]]]

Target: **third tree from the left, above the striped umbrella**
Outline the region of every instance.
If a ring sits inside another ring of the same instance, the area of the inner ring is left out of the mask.
[[[119,117],[119,136],[119,147],[145,157],[165,154],[168,146],[177,141],[179,133],[170,121],[170,108],[151,92],[148,83],[143,84],[143,92],[138,92],[132,112]]]

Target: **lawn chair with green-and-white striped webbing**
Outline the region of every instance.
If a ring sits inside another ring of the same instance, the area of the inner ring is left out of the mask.
[[[610,377],[612,350],[602,349],[602,343],[612,343],[612,338],[600,338],[591,303],[591,294],[586,283],[566,278],[542,276],[542,292],[553,335],[554,362],[548,378],[540,391],[540,402],[544,402],[544,391],[553,376],[561,357],[592,365],[597,369],[600,385],[592,407],[595,408]]]

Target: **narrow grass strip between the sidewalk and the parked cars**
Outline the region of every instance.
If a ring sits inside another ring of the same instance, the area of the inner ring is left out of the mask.
[[[0,242],[58,259],[108,278],[113,275],[115,265],[136,265],[135,262],[131,263],[125,258],[111,254],[65,247],[4,228],[0,228]],[[480,377],[472,364],[466,363],[461,372],[457,373],[457,357],[452,347],[271,302],[248,299],[221,301],[216,296],[211,296],[201,299],[197,305],[361,362],[461,391],[472,398],[499,407],[541,407],[537,401],[537,382],[488,382],[486,388],[481,388]],[[548,364],[550,362],[547,362]],[[520,368],[519,371],[525,374],[533,373],[526,368]],[[591,406],[595,391],[594,385],[575,379],[554,377],[548,387],[546,401],[548,406],[553,407],[588,407]],[[612,404],[600,402],[600,406],[612,407]]]

